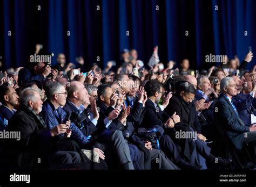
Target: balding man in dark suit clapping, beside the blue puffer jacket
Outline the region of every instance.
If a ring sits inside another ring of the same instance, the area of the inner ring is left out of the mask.
[[[90,96],[87,93],[84,84],[78,81],[70,82],[69,87],[66,87],[66,89],[68,91],[68,99],[66,100],[66,104],[64,105],[63,109],[66,112],[75,113],[80,119],[80,115],[83,115],[84,110],[86,110],[87,106],[90,104]],[[103,149],[104,151],[104,154],[102,154],[100,149],[94,148],[97,149],[101,159],[104,160],[106,155],[106,161],[113,160],[116,153],[118,153],[117,159],[123,157],[124,147],[127,147],[127,145],[122,133],[120,131],[116,131],[105,133],[104,135],[99,134],[97,131],[99,113],[97,110],[96,100],[91,101],[91,115],[88,117],[82,117],[83,120],[80,121],[82,125],[80,127],[80,131],[86,136],[91,135],[91,140],[97,141],[95,146]],[[74,119],[71,118],[71,120],[73,121]],[[103,136],[104,139],[102,138]],[[114,152],[111,152],[113,147],[115,150]]]

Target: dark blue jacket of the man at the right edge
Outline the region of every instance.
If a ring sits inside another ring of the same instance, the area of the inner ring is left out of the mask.
[[[238,95],[232,97],[232,102],[234,103],[239,117],[244,121],[245,125],[251,125],[251,114],[256,115],[256,110],[253,106],[253,101],[256,100],[250,94],[239,93]]]

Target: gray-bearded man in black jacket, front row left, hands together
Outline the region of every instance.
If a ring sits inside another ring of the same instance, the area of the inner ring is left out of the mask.
[[[20,95],[20,109],[12,116],[7,127],[9,132],[19,132],[20,140],[6,140],[6,148],[10,149],[10,162],[19,167],[41,167],[57,159],[58,163],[79,163],[79,154],[75,152],[55,152],[52,147],[53,136],[65,133],[64,124],[60,124],[50,131],[46,128],[43,118],[39,115],[42,111],[43,102],[38,89],[31,87],[22,90]],[[70,132],[71,133],[71,132]],[[13,160],[12,160],[13,159]],[[56,163],[56,162],[55,162]]]

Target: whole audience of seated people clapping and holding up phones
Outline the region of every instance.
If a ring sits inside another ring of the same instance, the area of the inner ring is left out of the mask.
[[[0,160],[14,168],[230,168],[232,159],[217,151],[216,123],[236,150],[255,145],[252,53],[241,64],[235,58],[200,74],[188,59],[174,69],[177,64],[165,67],[156,55],[147,66],[136,49],[125,49],[117,69],[109,61],[86,73],[82,57],[76,66],[64,54],[54,67],[34,62],[6,70]],[[11,133],[18,138],[4,136]]]

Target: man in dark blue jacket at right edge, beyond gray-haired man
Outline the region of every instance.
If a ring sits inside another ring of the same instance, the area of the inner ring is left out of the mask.
[[[255,91],[256,91],[256,84],[254,83],[252,91],[249,94],[242,93],[243,84],[242,81],[238,76],[232,76],[237,86],[237,95],[232,97],[232,102],[234,103],[235,107],[237,108],[239,117],[246,126],[250,126],[253,124],[256,118],[256,110],[253,106],[253,102],[256,101]],[[251,81],[250,81],[251,82]],[[244,87],[247,87],[249,82],[244,83]],[[255,122],[254,122],[255,123]]]

